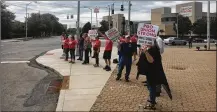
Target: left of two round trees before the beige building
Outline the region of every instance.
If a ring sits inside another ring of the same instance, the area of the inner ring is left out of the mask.
[[[177,21],[173,24],[173,30],[177,33],[176,30]],[[184,34],[189,34],[191,31],[192,23],[188,17],[183,17],[182,15],[178,16],[178,33],[183,37]]]

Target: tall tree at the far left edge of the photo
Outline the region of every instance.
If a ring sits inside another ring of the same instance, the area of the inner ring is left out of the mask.
[[[1,1],[1,37],[2,39],[11,38],[12,22],[15,19],[14,13],[6,9],[6,5]]]

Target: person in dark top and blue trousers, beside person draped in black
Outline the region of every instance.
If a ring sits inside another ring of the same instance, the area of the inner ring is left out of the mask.
[[[132,65],[133,46],[130,42],[130,37],[127,37],[125,41],[126,42],[122,43],[120,46],[120,53],[122,54],[122,58],[118,67],[118,74],[116,80],[120,80],[124,66],[126,66],[125,80],[126,82],[129,82],[129,75]]]

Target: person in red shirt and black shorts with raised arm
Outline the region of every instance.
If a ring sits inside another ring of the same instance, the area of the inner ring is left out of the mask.
[[[106,39],[105,50],[103,53],[103,59],[105,60],[106,66],[103,68],[106,71],[111,71],[111,54],[113,42],[106,36],[100,33]]]

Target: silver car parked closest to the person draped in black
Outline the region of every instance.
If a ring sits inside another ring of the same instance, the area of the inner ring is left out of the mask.
[[[177,38],[177,37],[169,37],[167,39],[164,39],[164,43],[166,45],[186,45],[187,44],[187,41],[186,40],[182,40],[180,38]]]

